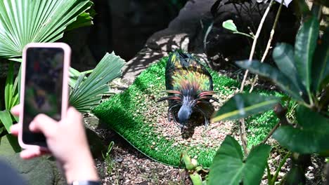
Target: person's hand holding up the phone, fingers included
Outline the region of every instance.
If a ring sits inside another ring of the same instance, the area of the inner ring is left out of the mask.
[[[22,112],[20,105],[13,107],[13,115],[19,116]],[[11,127],[11,133],[18,135],[20,123]],[[40,147],[31,147],[20,153],[21,158],[29,159],[51,153],[65,172],[67,182],[74,180],[98,180],[93,158],[86,140],[86,133],[82,116],[70,107],[67,116],[61,121],[55,121],[49,116],[39,114],[30,123],[32,132],[42,132],[46,137],[48,150]]]

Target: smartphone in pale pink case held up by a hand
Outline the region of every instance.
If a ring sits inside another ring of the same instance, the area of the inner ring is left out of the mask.
[[[24,48],[20,81],[22,127],[18,134],[23,149],[47,148],[44,135],[29,129],[35,116],[46,114],[56,121],[65,117],[70,55],[71,49],[66,43],[29,43]]]

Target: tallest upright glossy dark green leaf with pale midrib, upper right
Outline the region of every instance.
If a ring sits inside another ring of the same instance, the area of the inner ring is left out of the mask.
[[[307,22],[304,22],[299,30],[295,42],[295,62],[296,69],[302,84],[310,95],[311,85],[311,63],[314,51],[316,49],[316,41],[318,39],[319,23],[318,19],[311,16]]]

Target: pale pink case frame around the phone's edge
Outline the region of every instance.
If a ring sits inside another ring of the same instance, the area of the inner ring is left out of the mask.
[[[22,69],[21,69],[21,79],[20,79],[20,105],[22,111],[20,112],[20,131],[18,132],[18,142],[23,149],[37,147],[43,149],[42,146],[25,144],[22,142],[22,120],[24,113],[24,95],[25,95],[25,71],[26,71],[26,52],[27,48],[62,48],[64,50],[64,68],[63,68],[63,88],[62,88],[62,112],[61,118],[65,118],[67,106],[68,106],[68,92],[69,92],[69,67],[70,67],[70,57],[71,57],[71,48],[66,43],[29,43],[25,46],[22,53]]]

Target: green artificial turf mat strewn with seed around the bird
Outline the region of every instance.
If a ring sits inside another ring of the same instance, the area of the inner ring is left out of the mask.
[[[141,73],[134,83],[121,94],[93,109],[101,121],[124,137],[132,146],[167,165],[179,166],[181,151],[198,158],[198,162],[209,167],[212,158],[226,135],[234,135],[238,139],[236,122],[224,121],[210,123],[205,128],[202,116],[192,115],[189,129],[181,133],[171,121],[167,121],[167,102],[158,103],[160,97],[166,96],[164,71],[167,57],[151,65]],[[214,81],[214,91],[220,102],[214,104],[218,109],[240,87],[238,81],[221,76],[209,69]],[[246,91],[248,87],[245,88]],[[282,96],[280,93],[256,90],[262,95]],[[200,117],[200,118],[199,118]],[[247,118],[248,147],[258,144],[277,123],[273,111]]]

